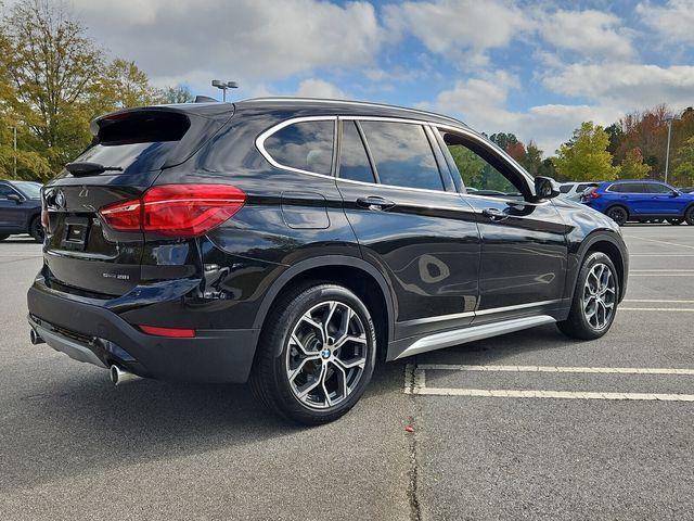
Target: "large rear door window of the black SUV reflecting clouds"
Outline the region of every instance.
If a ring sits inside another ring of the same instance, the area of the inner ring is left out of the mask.
[[[361,122],[361,128],[383,185],[444,191],[432,145],[421,125]]]

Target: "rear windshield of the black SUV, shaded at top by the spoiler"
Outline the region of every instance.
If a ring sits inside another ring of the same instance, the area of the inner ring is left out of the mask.
[[[99,126],[94,143],[75,161],[137,174],[162,168],[188,131],[190,120],[174,112],[136,112],[106,117]]]

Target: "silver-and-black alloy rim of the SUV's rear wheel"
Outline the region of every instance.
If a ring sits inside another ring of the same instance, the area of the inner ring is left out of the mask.
[[[286,350],[286,377],[305,406],[325,409],[347,399],[361,381],[369,344],[361,318],[347,304],[326,301],[294,326]]]

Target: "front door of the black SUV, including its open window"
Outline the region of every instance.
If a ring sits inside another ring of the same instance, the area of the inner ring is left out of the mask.
[[[463,180],[481,183],[474,193],[490,186],[506,190],[506,196],[461,195],[475,209],[483,240],[475,323],[565,307],[567,228],[554,204],[528,202],[527,180],[479,138],[441,137]]]

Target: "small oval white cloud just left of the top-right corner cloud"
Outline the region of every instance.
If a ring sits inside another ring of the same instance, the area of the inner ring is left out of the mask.
[[[540,34],[560,49],[584,55],[629,58],[633,54],[629,33],[621,21],[601,11],[556,11],[545,17]]]

